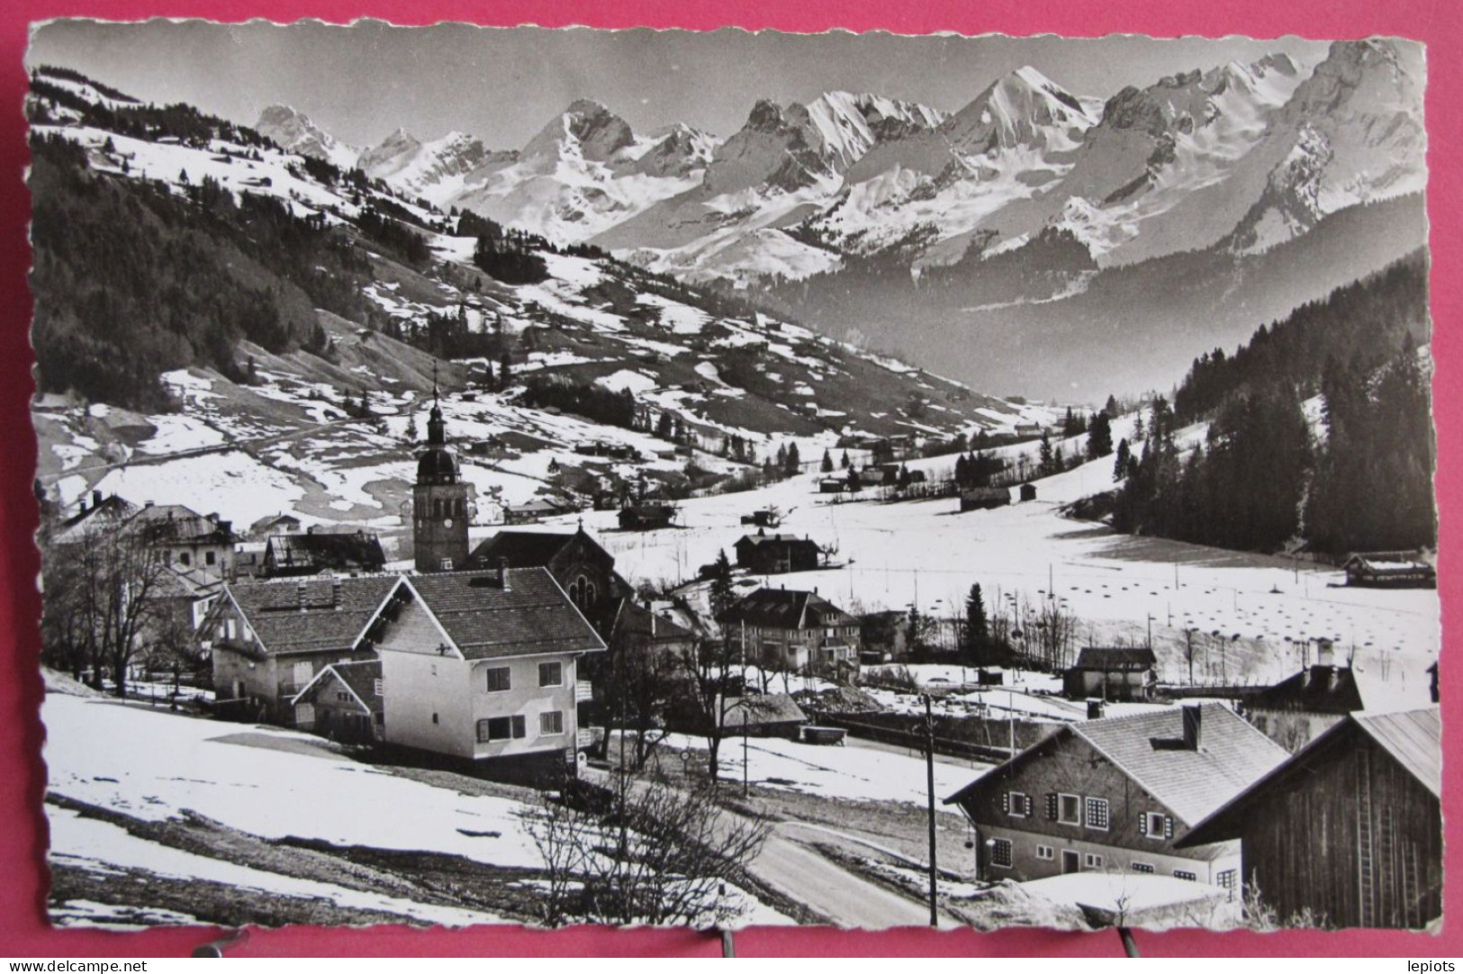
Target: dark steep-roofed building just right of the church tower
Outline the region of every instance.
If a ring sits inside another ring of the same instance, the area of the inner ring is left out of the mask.
[[[604,622],[614,603],[631,591],[614,573],[614,556],[579,525],[573,532],[499,531],[468,554],[468,569],[549,569],[554,581],[591,622]]]

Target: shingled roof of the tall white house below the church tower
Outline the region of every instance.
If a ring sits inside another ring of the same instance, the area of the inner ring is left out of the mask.
[[[468,660],[604,649],[559,584],[543,567],[439,572],[402,579]]]

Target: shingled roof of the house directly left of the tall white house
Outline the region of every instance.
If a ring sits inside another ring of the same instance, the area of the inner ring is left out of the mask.
[[[351,649],[399,581],[399,575],[300,578],[234,582],[224,591],[266,654],[319,652]]]

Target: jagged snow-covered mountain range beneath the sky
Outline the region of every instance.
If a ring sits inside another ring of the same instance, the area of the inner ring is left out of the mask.
[[[1342,41],[1162,78],[1106,99],[1034,67],[954,114],[873,94],[758,101],[724,140],[639,135],[576,101],[521,149],[396,132],[364,151],[266,108],[282,146],[556,243],[685,279],[805,278],[898,249],[913,272],[1069,231],[1100,266],[1226,240],[1260,252],[1425,186],[1421,47]],[[351,159],[354,154],[354,161]]]

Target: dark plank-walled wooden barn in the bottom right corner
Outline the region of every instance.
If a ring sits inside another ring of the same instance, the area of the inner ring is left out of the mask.
[[[1423,929],[1443,914],[1441,730],[1437,706],[1350,714],[1179,845],[1238,841],[1280,920]]]

